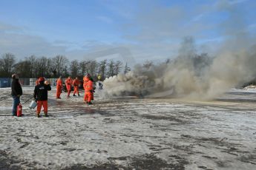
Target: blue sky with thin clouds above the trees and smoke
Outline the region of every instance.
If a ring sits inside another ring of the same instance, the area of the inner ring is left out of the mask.
[[[164,61],[186,36],[214,55],[240,31],[255,38],[255,9],[255,0],[0,0],[0,55]]]

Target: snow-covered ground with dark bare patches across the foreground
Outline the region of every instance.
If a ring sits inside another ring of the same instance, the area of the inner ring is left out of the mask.
[[[23,90],[22,102],[33,94]],[[30,102],[11,116],[10,89],[0,92],[0,169],[256,169],[250,89],[204,102],[96,96],[93,106],[66,93],[56,101],[53,89],[49,118]]]

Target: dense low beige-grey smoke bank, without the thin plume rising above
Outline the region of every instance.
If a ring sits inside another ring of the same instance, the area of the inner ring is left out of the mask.
[[[186,38],[180,49],[183,52],[174,61],[149,67],[137,65],[126,75],[106,79],[105,91],[117,96],[211,99],[255,78],[255,53],[244,49],[224,50],[212,58],[194,53],[188,47],[190,43],[191,38]]]

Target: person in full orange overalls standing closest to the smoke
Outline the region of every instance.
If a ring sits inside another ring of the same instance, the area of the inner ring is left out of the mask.
[[[93,99],[93,81],[91,79],[91,75],[87,74],[83,78],[84,84],[83,87],[85,89],[85,98],[84,101],[88,104],[93,104],[91,103],[91,100]]]

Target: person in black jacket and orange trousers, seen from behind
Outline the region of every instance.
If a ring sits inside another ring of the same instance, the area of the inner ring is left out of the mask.
[[[37,101],[37,109],[36,109],[36,115],[38,118],[40,118],[40,112],[42,106],[44,107],[44,113],[45,117],[48,117],[48,91],[51,90],[49,81],[45,81],[45,78],[41,77],[39,78],[39,85],[35,86],[34,89],[34,98]]]

